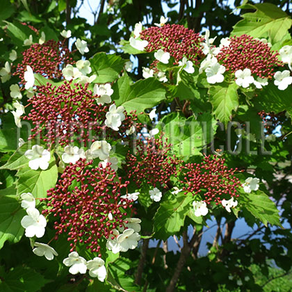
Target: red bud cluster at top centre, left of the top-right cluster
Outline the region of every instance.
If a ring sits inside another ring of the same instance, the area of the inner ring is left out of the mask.
[[[195,64],[204,58],[200,43],[204,38],[200,33],[195,33],[192,29],[186,29],[179,24],[165,24],[164,26],[152,26],[140,33],[142,40],[147,40],[148,45],[145,51],[163,51],[170,53],[175,58],[175,64],[186,57]]]

